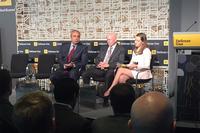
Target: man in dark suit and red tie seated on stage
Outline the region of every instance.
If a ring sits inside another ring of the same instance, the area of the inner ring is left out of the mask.
[[[71,31],[71,43],[63,44],[59,51],[59,64],[58,69],[51,80],[65,75],[74,80],[78,80],[81,72],[85,69],[88,62],[87,46],[82,45],[80,42],[80,32],[78,30]]]

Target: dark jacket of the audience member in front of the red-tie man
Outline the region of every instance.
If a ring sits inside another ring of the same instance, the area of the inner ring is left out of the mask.
[[[56,133],[89,133],[91,121],[67,106],[54,104]]]

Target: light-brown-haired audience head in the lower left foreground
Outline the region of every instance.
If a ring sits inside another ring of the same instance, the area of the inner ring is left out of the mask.
[[[52,102],[40,91],[22,96],[14,105],[13,121],[20,133],[49,133],[52,119]]]

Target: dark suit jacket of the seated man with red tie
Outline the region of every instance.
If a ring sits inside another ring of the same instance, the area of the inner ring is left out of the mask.
[[[63,69],[63,65],[68,63],[66,62],[67,55],[69,53],[71,43],[63,44],[60,47],[59,51],[59,64],[60,67]],[[88,54],[87,54],[87,46],[82,45],[81,42],[77,44],[76,50],[71,59],[72,62],[75,63],[76,69],[84,69],[85,65],[88,62]]]

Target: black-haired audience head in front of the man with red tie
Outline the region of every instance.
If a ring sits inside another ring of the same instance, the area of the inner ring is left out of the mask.
[[[62,76],[55,81],[53,91],[56,102],[70,104],[74,108],[79,93],[75,80]]]

